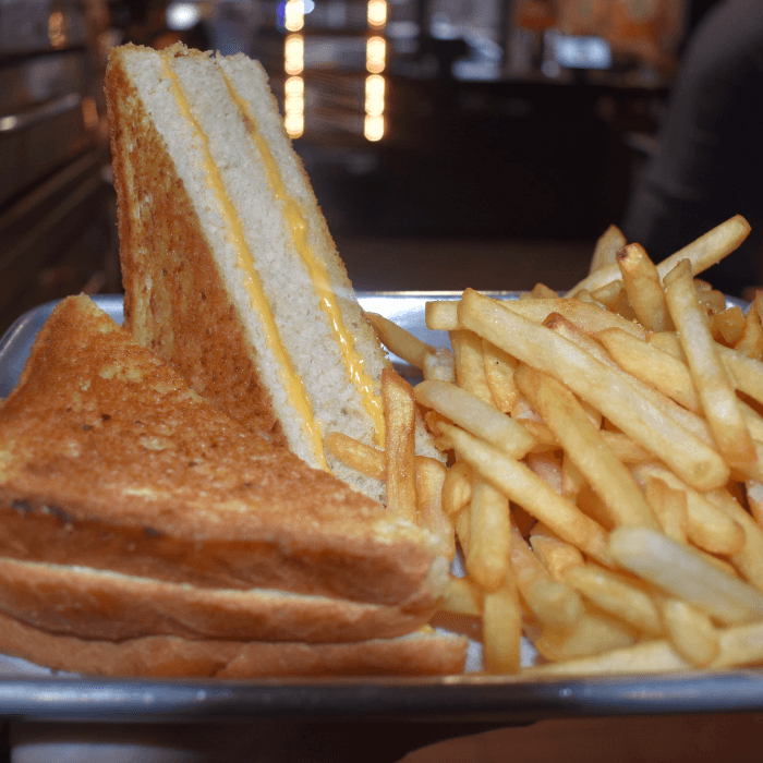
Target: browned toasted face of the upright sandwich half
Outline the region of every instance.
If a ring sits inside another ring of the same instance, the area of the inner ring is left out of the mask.
[[[198,217],[119,56],[110,60],[105,89],[125,327],[199,395],[286,445]],[[177,340],[175,326],[183,327]]]

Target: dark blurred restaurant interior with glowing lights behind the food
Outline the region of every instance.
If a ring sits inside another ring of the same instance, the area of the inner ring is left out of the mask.
[[[114,45],[263,62],[358,289],[565,289],[623,217],[715,4],[0,0],[0,330],[120,289]]]

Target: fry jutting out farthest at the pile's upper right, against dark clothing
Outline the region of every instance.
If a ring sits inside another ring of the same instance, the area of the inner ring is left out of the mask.
[[[697,276],[738,249],[749,234],[750,225],[748,221],[741,215],[735,215],[666,259],[663,259],[663,262],[657,264],[657,272],[659,272],[661,278],[665,278],[666,274],[673,270],[681,259],[688,259],[691,263],[691,271]],[[574,296],[581,289],[588,289],[593,292],[619,278],[620,269],[617,264],[598,268],[588,278],[572,287],[566,296]]]

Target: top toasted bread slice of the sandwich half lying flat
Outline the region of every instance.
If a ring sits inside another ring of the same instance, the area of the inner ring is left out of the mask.
[[[428,542],[206,403],[84,295],[0,409],[0,556],[422,611]]]

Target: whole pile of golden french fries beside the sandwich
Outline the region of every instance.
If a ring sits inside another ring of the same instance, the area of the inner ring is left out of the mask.
[[[368,316],[424,380],[385,376],[384,451],[327,447],[462,558],[441,608],[479,618],[485,671],[763,664],[763,296],[744,313],[697,278],[748,233],[655,266],[613,227],[564,296],[428,303],[452,352]],[[417,415],[447,465],[414,455]]]

